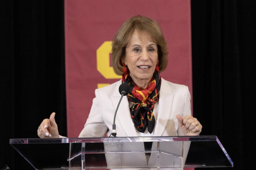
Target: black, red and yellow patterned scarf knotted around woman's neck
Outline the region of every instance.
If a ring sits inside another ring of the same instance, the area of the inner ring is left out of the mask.
[[[155,103],[159,99],[159,90],[162,82],[160,74],[155,71],[151,84],[144,90],[140,90],[139,87],[135,86],[132,78],[127,73],[123,74],[122,82],[130,86],[130,92],[127,97],[132,102],[130,112],[135,127],[141,133],[144,133],[148,127],[148,132],[151,134],[155,127],[153,110]]]

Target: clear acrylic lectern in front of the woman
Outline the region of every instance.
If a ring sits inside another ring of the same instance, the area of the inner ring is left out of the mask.
[[[10,139],[35,169],[233,167],[216,136]]]

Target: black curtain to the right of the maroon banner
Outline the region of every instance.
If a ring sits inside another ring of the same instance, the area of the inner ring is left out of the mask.
[[[254,167],[255,5],[191,1],[194,115],[233,160],[225,169]]]

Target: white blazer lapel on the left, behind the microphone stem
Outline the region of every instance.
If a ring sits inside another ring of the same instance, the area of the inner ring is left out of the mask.
[[[121,84],[121,83],[120,83]],[[118,84],[114,90],[113,96],[111,97],[112,102],[114,104],[115,110],[116,107],[118,105],[118,102],[121,98],[121,94],[119,93],[119,86],[120,84]],[[116,118],[118,118],[118,120],[120,121],[124,131],[126,132],[127,136],[129,137],[133,137],[133,136],[137,136],[137,132],[135,130],[133,121],[132,121],[132,117],[131,117],[131,113],[130,113],[130,107],[129,107],[129,102],[126,96],[123,97],[119,108],[117,110],[116,113]],[[118,131],[117,131],[118,134]]]

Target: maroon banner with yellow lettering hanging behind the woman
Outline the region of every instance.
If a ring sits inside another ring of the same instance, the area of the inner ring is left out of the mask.
[[[78,137],[83,129],[94,90],[121,78],[111,66],[111,41],[134,15],[147,16],[161,26],[169,50],[168,67],[161,76],[187,85],[192,96],[190,0],[66,0],[68,137]]]

